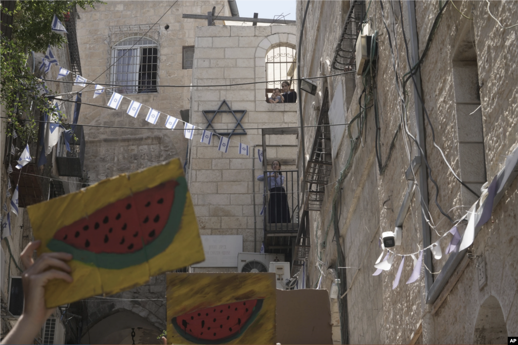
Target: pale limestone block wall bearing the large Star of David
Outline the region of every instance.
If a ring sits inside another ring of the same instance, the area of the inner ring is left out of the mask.
[[[295,29],[289,25],[197,27],[192,84],[206,86],[265,81],[266,53],[280,45],[294,47]],[[189,143],[189,184],[200,234],[243,235],[243,251],[258,252],[263,241],[263,219],[259,215],[263,205],[263,185],[256,181],[256,177],[262,174],[263,168],[253,148],[262,145],[262,128],[296,126],[298,104],[266,103],[264,83],[193,87],[191,95],[191,123],[198,127],[206,128],[208,125],[203,111],[218,109],[223,100],[233,110],[247,111],[241,121],[247,134],[232,136],[228,153],[218,151],[218,137],[212,138],[211,145],[200,143],[199,132]],[[211,118],[212,114],[207,115]],[[242,113],[237,114],[239,118]],[[234,128],[236,120],[230,114],[218,115],[213,125],[219,131],[227,131]],[[239,142],[250,146],[249,157],[238,154]],[[295,137],[271,136],[267,144],[272,145],[267,149],[268,159],[296,158]]]

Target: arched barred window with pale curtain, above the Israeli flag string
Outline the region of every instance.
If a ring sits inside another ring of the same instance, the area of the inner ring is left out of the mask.
[[[157,92],[159,45],[148,37],[126,38],[111,49],[111,83],[119,94]]]

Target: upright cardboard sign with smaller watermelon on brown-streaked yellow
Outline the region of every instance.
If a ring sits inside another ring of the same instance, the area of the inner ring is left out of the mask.
[[[275,344],[274,273],[168,273],[167,343]]]

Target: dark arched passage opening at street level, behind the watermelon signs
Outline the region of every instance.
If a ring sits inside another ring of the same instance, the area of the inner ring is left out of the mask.
[[[97,322],[83,335],[81,343],[132,344],[132,328],[135,329],[135,344],[162,343],[156,339],[162,329],[129,310],[116,312]]]

